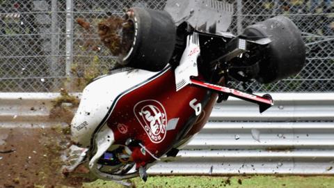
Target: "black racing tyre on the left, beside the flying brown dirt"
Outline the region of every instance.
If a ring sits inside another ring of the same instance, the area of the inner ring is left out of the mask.
[[[119,63],[132,68],[159,71],[166,67],[175,48],[176,26],[161,10],[131,8],[127,16],[134,26],[132,47]]]

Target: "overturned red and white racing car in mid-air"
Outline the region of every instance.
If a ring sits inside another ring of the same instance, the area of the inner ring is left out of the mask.
[[[122,65],[97,77],[82,93],[72,123],[67,171],[84,165],[95,178],[120,182],[140,176],[161,157],[175,157],[196,135],[216,102],[238,97],[273,105],[229,81],[269,84],[296,75],[305,45],[296,25],[277,16],[229,31],[226,1],[166,2],[164,10],[129,8],[118,33]]]

